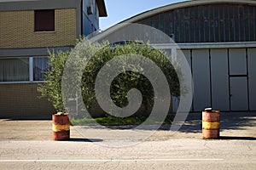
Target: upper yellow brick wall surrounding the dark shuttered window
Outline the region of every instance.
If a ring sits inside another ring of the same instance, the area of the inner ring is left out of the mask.
[[[34,48],[74,45],[76,9],[55,9],[55,31],[34,31],[34,11],[0,12],[0,48]]]

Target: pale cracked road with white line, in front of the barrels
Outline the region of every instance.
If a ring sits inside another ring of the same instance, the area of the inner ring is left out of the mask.
[[[0,169],[256,169],[253,140],[170,139],[109,148],[74,141],[1,141]]]

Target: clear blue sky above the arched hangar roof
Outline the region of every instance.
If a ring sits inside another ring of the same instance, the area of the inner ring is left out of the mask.
[[[106,30],[149,9],[183,1],[185,0],[105,0],[108,17],[100,18],[100,29]]]

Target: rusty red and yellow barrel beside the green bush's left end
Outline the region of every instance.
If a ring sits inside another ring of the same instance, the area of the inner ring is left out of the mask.
[[[54,140],[70,139],[70,124],[67,113],[57,113],[52,116]]]

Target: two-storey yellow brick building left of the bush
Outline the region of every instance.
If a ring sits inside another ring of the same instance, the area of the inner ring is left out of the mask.
[[[81,35],[99,29],[104,16],[104,0],[1,1],[0,116],[54,113],[37,92],[49,68],[48,51],[73,48]]]

